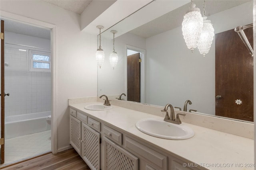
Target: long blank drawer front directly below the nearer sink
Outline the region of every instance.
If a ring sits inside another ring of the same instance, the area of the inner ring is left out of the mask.
[[[155,150],[146,147],[145,145],[142,145],[141,143],[138,143],[137,141],[134,141],[128,137],[125,139],[124,147],[140,155],[138,157],[143,157],[146,159],[152,167],[155,167],[155,169],[167,170],[167,156],[160,154],[159,152],[156,152]],[[150,168],[148,167],[148,169]]]

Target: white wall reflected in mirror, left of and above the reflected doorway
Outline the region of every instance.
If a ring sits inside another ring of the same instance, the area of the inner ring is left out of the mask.
[[[106,32],[105,32],[106,33]],[[109,31],[110,33],[110,31]],[[111,33],[110,33],[111,34]],[[131,33],[125,33],[115,38],[115,51],[118,54],[116,68],[110,66],[109,55],[113,50],[113,39],[102,39],[102,48],[105,52],[105,60],[102,68],[98,67],[98,96],[106,94],[108,96],[119,96],[125,93],[125,54],[126,46],[132,45],[141,49],[146,49],[146,39]]]

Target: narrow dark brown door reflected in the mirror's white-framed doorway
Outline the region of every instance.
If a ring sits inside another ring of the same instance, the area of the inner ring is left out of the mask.
[[[127,56],[127,100],[140,102],[140,53]]]

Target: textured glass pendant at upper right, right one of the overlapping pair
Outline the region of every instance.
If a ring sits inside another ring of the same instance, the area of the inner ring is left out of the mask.
[[[213,36],[214,36],[214,29],[212,27],[212,23],[210,20],[206,20],[207,17],[205,16],[205,13],[206,12],[205,12],[205,0],[204,0],[204,12],[203,12],[204,23],[203,23],[202,32],[199,36],[198,44],[197,44],[200,54],[202,54],[204,57],[210,50]]]

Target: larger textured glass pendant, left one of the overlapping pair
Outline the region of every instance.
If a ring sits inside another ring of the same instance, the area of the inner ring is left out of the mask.
[[[192,52],[197,47],[197,42],[203,27],[203,18],[199,8],[195,8],[196,5],[191,0],[191,5],[184,15],[182,21],[182,34],[185,39],[188,49]]]

